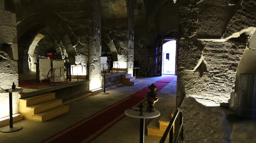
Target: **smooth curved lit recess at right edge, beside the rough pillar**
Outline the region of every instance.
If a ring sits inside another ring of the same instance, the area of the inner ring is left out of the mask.
[[[250,37],[247,47],[244,50],[244,54],[237,67],[237,74],[235,80],[235,92],[238,91],[238,84],[240,80],[240,74],[256,74],[256,29]]]

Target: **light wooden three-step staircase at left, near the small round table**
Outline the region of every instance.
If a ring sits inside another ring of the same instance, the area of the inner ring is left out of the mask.
[[[62,99],[56,99],[55,93],[47,92],[19,99],[19,111],[25,119],[44,122],[69,112],[69,106],[62,105]]]

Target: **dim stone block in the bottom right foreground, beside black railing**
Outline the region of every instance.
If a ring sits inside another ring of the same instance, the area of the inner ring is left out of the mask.
[[[181,108],[182,143],[231,143],[231,127],[223,110],[206,107],[194,98],[186,98]]]

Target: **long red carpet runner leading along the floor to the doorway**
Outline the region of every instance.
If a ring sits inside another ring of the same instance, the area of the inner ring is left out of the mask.
[[[172,80],[175,76],[171,76]],[[170,82],[171,80],[169,80]],[[160,91],[168,82],[155,82],[157,86],[156,92]],[[96,137],[99,137],[103,132],[116,124],[119,120],[125,117],[125,110],[131,107],[138,107],[140,103],[144,103],[144,96],[149,92],[149,88],[144,89],[126,97],[125,99],[112,104],[106,109],[81,120],[73,126],[68,127],[62,132],[47,138],[41,143],[90,143]]]

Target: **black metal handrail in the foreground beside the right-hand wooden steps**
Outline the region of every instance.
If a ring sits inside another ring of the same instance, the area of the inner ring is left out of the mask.
[[[178,109],[181,108],[182,103],[184,102],[184,100],[185,100],[185,98],[183,99],[183,101],[178,106]],[[171,119],[170,124],[167,126],[165,132],[163,133],[162,138],[161,138],[159,143],[164,143],[168,134],[169,134],[169,143],[178,143],[178,141],[182,138],[182,132],[183,132],[183,130],[182,130],[182,126],[183,126],[182,114],[178,109],[176,109],[176,111],[173,115],[173,118]],[[177,132],[174,133],[175,120],[177,119],[177,117],[179,115],[180,115],[179,126],[178,126],[178,129],[177,129]],[[175,138],[174,138],[174,135],[175,135]]]

